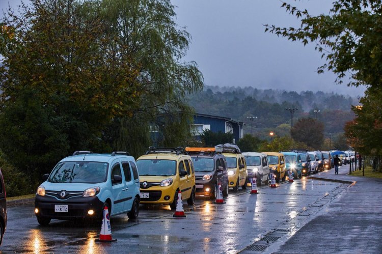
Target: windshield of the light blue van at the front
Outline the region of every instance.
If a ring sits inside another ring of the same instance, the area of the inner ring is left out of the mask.
[[[65,161],[54,167],[51,183],[102,183],[106,181],[108,163],[93,161]]]

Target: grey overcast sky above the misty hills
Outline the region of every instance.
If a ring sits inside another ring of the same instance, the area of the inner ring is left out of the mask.
[[[298,26],[280,0],[171,0],[177,23],[192,36],[184,61],[195,61],[209,86],[252,86],[363,95],[364,88],[334,83],[331,72],[318,75],[323,60],[313,44],[290,42],[264,33],[263,24]],[[312,14],[328,13],[332,0],[286,0]],[[16,7],[20,0],[0,0]],[[24,2],[28,2],[24,1]]]

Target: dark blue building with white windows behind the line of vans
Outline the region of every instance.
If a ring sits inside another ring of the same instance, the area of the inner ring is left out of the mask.
[[[232,132],[234,142],[237,142],[243,137],[243,122],[233,120],[228,117],[219,117],[205,114],[196,114],[194,116],[194,124],[190,125],[191,133],[193,136],[200,140],[200,135],[204,130],[211,130],[212,132]]]

